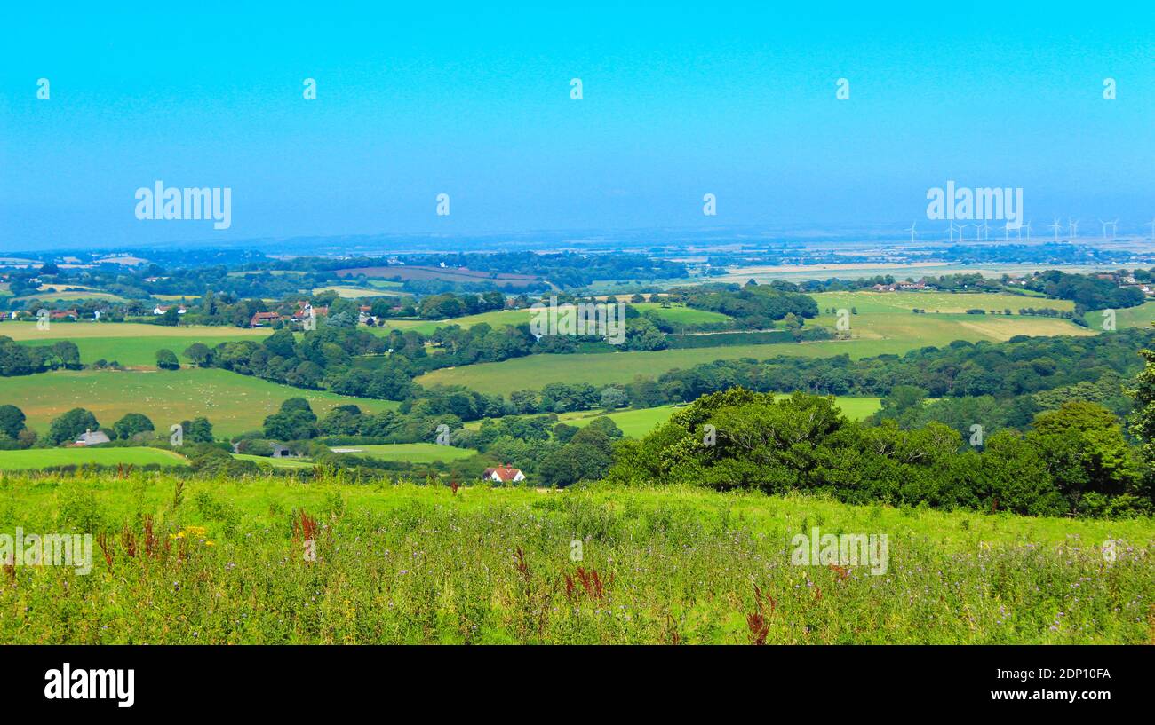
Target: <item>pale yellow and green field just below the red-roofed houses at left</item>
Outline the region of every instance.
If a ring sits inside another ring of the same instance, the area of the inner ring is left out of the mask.
[[[139,322],[53,322],[47,330],[37,330],[35,322],[5,322],[0,335],[30,345],[43,345],[58,339],[76,343],[81,362],[96,360],[120,362],[128,367],[156,367],[156,351],[166,347],[177,353],[182,362],[185,349],[193,343],[214,346],[238,339],[260,341],[271,330],[238,327],[214,327],[194,324],[187,327],[162,327]]]

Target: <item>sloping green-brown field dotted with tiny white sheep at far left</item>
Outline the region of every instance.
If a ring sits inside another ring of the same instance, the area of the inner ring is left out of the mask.
[[[303,390],[238,375],[229,371],[57,371],[21,378],[0,378],[0,403],[12,403],[28,416],[28,425],[44,433],[52,418],[73,408],[85,408],[102,426],[111,426],[129,412],[148,416],[157,431],[196,416],[204,416],[217,438],[261,427],[266,416],[285,398],[304,397],[323,416],[345,403],[363,410],[396,408],[390,401],[371,401],[319,390]]]

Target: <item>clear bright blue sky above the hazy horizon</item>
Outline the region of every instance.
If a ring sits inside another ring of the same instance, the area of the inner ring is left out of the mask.
[[[1036,227],[1155,217],[1150,5],[337,5],[8,8],[0,248],[932,227],[947,179],[1022,187]],[[137,221],[157,179],[230,187],[231,227]]]

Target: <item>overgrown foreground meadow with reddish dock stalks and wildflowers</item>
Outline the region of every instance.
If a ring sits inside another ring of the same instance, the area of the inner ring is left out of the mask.
[[[12,569],[0,643],[747,643],[754,615],[769,643],[1155,637],[1150,520],[341,477],[193,479],[179,498],[147,473],[7,476],[0,489],[0,531],[106,531],[111,560],[94,545],[88,576]],[[315,562],[295,509],[318,520]],[[792,566],[792,537],[815,526],[885,533],[886,571]]]

